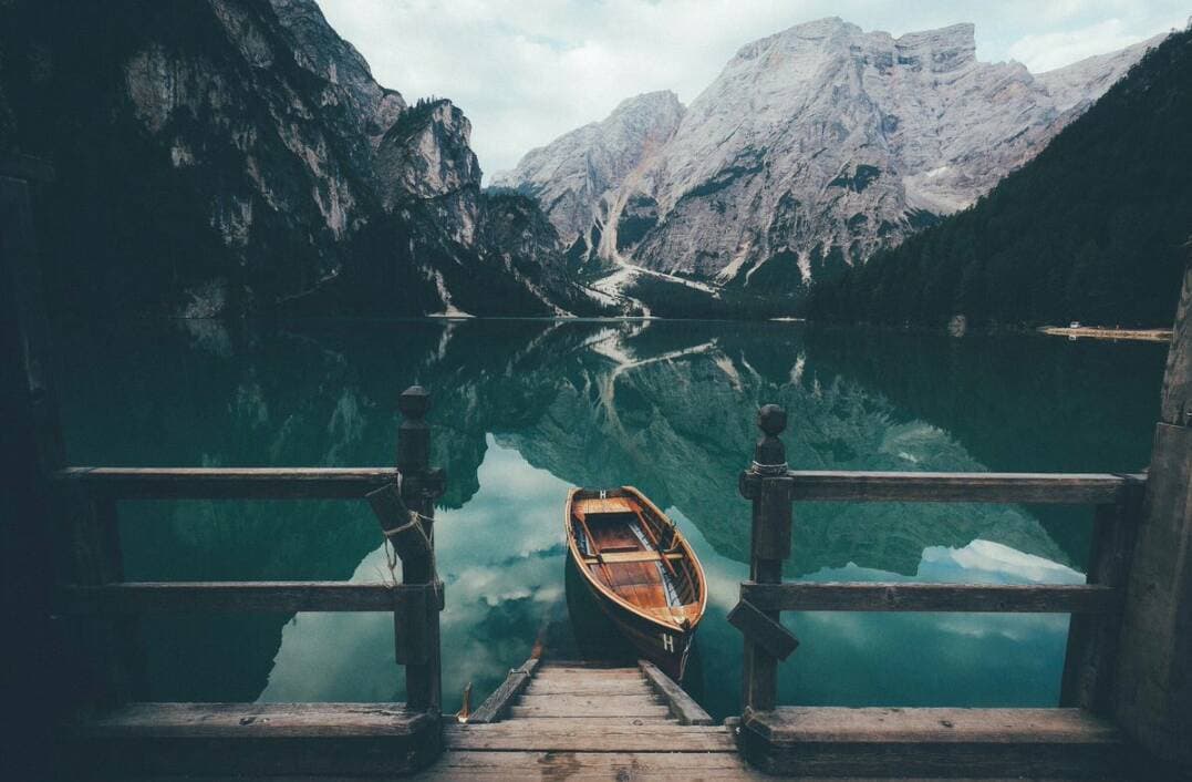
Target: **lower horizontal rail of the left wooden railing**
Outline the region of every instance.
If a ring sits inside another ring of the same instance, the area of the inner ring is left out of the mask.
[[[126,582],[62,586],[60,614],[392,612],[434,588],[348,582]],[[437,589],[442,607],[443,585]]]

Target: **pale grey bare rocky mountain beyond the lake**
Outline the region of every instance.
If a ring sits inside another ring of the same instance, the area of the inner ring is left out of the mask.
[[[588,161],[604,134],[591,126],[529,153],[503,181],[620,267],[601,290],[662,274],[714,294],[800,297],[970,205],[1150,43],[1035,76],[979,62],[971,24],[895,38],[818,19],[738,50],[665,143],[619,147],[632,166],[601,169],[600,196]]]

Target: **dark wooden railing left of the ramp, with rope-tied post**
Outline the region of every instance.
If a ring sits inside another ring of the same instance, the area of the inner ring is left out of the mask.
[[[132,675],[122,657],[132,645],[132,615],[392,612],[406,707],[439,713],[443,585],[434,572],[433,525],[445,479],[427,464],[428,392],[410,387],[398,404],[404,421],[397,467],[66,467],[54,473],[72,550],[72,572],[56,589],[55,612],[112,619],[98,639],[106,658],[107,701],[129,695]],[[118,507],[129,499],[368,499],[401,558],[402,583],[126,582]]]

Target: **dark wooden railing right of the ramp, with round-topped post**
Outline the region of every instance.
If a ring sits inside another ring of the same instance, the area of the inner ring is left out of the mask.
[[[1123,586],[1141,513],[1144,474],[791,471],[778,435],[787,415],[758,412],[762,439],[740,492],[753,503],[750,581],[728,621],[745,637],[743,707],[777,706],[777,664],[799,645],[782,612],[1004,612],[1072,614],[1061,706],[1109,708]],[[1095,507],[1087,583],[784,583],[795,502],[1066,503]]]

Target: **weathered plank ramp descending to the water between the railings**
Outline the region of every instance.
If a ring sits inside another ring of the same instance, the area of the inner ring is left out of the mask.
[[[478,720],[478,721],[477,721]],[[763,780],[712,718],[647,662],[528,660],[412,777],[446,780]]]

